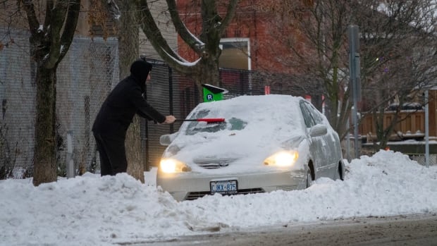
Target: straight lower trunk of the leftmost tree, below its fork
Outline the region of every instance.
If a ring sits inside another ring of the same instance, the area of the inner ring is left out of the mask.
[[[37,117],[35,122],[35,186],[57,180],[56,172],[56,67],[37,68]]]

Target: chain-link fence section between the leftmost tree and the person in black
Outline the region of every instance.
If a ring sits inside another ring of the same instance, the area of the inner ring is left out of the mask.
[[[94,171],[98,156],[92,123],[118,78],[116,39],[74,39],[57,71],[59,166],[73,161],[81,173]]]

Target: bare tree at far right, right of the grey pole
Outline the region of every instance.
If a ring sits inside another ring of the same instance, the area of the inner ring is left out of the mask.
[[[427,104],[421,89],[437,78],[436,64],[436,4],[429,1],[377,1],[362,4],[371,11],[357,12],[357,23],[362,26],[362,68],[366,81],[363,92],[376,124],[376,149],[386,147],[395,125],[404,121],[400,110],[412,99]],[[377,6],[377,8],[375,7]],[[391,102],[399,107],[388,124],[383,115]]]

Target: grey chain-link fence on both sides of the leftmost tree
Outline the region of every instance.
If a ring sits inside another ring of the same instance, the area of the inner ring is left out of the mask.
[[[29,33],[0,29],[0,178],[32,176],[35,147],[36,67]],[[56,73],[56,140],[59,175],[67,163],[91,170],[96,147],[91,127],[106,95],[118,82],[116,39],[75,38]]]

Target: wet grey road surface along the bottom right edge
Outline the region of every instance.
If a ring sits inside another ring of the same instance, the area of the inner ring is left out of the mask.
[[[252,228],[180,238],[126,242],[134,246],[437,245],[437,214],[368,217]]]

